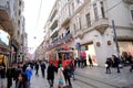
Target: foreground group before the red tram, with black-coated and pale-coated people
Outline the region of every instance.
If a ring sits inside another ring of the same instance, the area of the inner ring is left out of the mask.
[[[58,65],[58,88],[72,88],[71,77],[74,79],[74,61],[71,61],[69,65],[62,66],[61,61]],[[55,66],[50,63],[47,70],[47,79],[49,81],[50,88],[53,88]]]

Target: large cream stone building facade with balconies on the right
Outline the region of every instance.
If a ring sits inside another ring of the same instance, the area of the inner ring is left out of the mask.
[[[86,59],[90,54],[95,65],[103,66],[113,54],[127,52],[133,55],[133,1],[57,0],[44,30],[45,55],[69,45],[76,56],[84,51]]]

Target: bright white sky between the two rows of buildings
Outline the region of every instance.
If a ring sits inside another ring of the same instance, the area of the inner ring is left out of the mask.
[[[33,53],[44,36],[44,24],[55,0],[24,0],[25,32],[28,33],[29,52]],[[40,8],[41,6],[41,8]]]

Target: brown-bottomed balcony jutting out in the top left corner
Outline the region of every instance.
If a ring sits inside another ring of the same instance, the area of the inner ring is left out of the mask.
[[[13,35],[13,24],[11,21],[10,9],[7,1],[0,2],[0,24],[10,35]]]

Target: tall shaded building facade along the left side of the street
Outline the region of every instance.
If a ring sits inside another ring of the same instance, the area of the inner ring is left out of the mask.
[[[23,6],[23,0],[0,0],[0,30],[8,34],[7,54],[10,63],[17,63],[21,57],[22,29],[24,28],[22,20]],[[1,52],[2,57],[6,55],[3,53]]]

